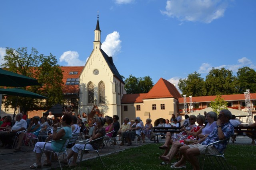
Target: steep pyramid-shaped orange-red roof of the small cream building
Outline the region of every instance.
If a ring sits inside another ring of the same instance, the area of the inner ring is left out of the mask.
[[[154,98],[180,98],[182,97],[177,88],[167,80],[160,78],[143,99]]]

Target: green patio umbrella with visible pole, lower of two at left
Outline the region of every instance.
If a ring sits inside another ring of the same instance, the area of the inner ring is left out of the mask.
[[[17,96],[16,107],[17,107],[18,97],[19,96],[21,96],[21,97],[29,97],[29,98],[38,98],[38,99],[46,99],[47,98],[47,97],[42,96],[40,94],[36,94],[36,93],[30,92],[30,91],[24,90],[22,88],[0,88],[0,94]],[[16,107],[14,109],[14,114],[13,114],[13,123],[14,123]]]

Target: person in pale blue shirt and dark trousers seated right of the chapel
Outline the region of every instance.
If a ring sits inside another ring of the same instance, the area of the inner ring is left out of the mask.
[[[132,141],[134,141],[136,135],[140,136],[141,129],[143,128],[142,123],[140,122],[140,117],[136,117],[134,120],[136,125],[133,125],[129,131],[124,133],[124,138],[126,138],[126,141],[128,142],[127,146],[132,145]],[[135,124],[134,123],[134,124]]]

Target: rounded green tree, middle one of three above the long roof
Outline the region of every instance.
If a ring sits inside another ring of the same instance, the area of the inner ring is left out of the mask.
[[[205,79],[204,96],[238,94],[238,81],[232,71],[225,68],[212,68]]]

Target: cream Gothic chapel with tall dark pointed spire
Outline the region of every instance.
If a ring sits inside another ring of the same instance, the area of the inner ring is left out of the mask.
[[[80,73],[79,104],[80,113],[88,117],[118,115],[121,117],[121,98],[126,91],[113,58],[101,49],[99,18],[94,30],[93,50]]]

